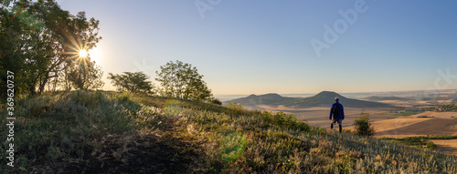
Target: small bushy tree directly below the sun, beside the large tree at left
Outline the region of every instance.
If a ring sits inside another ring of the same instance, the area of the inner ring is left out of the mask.
[[[89,57],[86,57],[90,59]],[[72,87],[78,89],[97,89],[105,84],[101,77],[103,71],[101,67],[95,65],[95,62],[85,61],[86,58],[81,58],[79,62],[71,63],[71,66],[66,69],[67,78]],[[64,83],[66,85],[66,83]]]

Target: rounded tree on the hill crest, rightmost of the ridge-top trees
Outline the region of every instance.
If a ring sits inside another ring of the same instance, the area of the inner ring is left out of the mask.
[[[210,100],[211,90],[203,81],[203,75],[199,75],[197,67],[185,64],[179,60],[168,62],[156,71],[160,82],[160,94],[166,97],[177,97],[192,100]]]

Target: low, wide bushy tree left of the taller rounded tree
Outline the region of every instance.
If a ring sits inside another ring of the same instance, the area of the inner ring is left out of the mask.
[[[109,73],[108,79],[112,80],[112,85],[117,87],[118,91],[154,94],[154,84],[151,81],[147,81],[149,77],[143,72],[123,72],[123,75]]]

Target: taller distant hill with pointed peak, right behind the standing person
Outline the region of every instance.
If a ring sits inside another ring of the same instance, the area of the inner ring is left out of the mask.
[[[323,91],[314,97],[285,101],[280,105],[285,107],[330,107],[335,103],[335,97],[339,97],[340,103],[345,107],[394,107],[384,103],[347,98],[331,91]]]

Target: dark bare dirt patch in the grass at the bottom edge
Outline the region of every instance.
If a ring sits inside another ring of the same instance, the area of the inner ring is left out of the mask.
[[[107,154],[105,159],[95,160],[94,164],[97,165],[89,170],[97,173],[186,173],[197,161],[197,153],[189,150],[194,148],[188,148],[192,145],[181,138],[171,135],[136,138],[136,141],[127,145],[130,148],[128,151],[120,150],[127,148],[119,143],[119,139],[112,139],[102,149]]]

